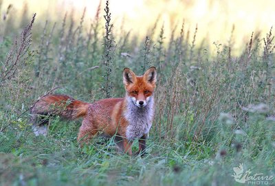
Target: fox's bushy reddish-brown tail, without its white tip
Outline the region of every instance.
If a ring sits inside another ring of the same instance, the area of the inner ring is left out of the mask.
[[[31,114],[59,115],[66,119],[76,119],[87,115],[89,104],[74,100],[67,95],[45,95],[34,104]]]

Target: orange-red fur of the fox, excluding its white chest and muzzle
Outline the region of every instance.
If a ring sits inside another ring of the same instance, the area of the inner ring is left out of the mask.
[[[130,69],[124,69],[126,97],[146,100],[146,97],[151,96],[155,89],[155,80],[150,79],[153,72],[155,72],[155,67],[148,69],[143,76],[136,76]],[[88,104],[74,100],[67,95],[46,95],[36,102],[32,113],[41,115],[51,113],[52,115],[61,115],[61,117],[67,119],[83,117],[82,126],[80,126],[78,132],[79,142],[84,141],[87,143],[98,132],[103,132],[104,135],[109,137],[116,135],[118,139],[122,139],[122,141],[118,141],[118,146],[124,152],[132,154],[132,141],[126,137],[126,129],[129,126],[129,121],[124,116],[129,102],[126,97],[103,99]],[[142,140],[145,138],[146,134],[142,136]],[[144,150],[144,147],[145,142],[140,142],[139,152]]]

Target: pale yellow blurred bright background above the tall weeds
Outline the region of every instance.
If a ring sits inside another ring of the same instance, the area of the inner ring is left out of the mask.
[[[21,14],[31,16],[37,13],[38,21],[52,20],[61,21],[65,12],[74,12],[74,18],[78,19],[87,8],[85,24],[94,19],[100,0],[3,0],[2,12],[11,4],[10,16],[21,17]],[[104,2],[102,2],[104,6]],[[131,30],[131,33],[144,36],[148,27],[153,27],[156,20],[159,20],[159,27],[165,27],[164,36],[170,36],[171,30],[185,21],[186,29],[195,32],[198,25],[197,42],[204,39],[204,42],[212,45],[215,43],[226,43],[234,27],[235,53],[238,53],[243,42],[246,42],[252,32],[261,30],[267,33],[274,25],[275,1],[266,0],[115,0],[110,2],[111,14],[115,27],[123,23],[124,30]],[[4,15],[2,15],[3,17]],[[17,22],[19,23],[19,21]]]

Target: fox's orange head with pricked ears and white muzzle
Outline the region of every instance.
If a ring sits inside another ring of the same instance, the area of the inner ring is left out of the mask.
[[[155,67],[149,68],[144,75],[137,76],[133,71],[125,68],[123,71],[123,83],[128,95],[135,106],[140,108],[146,106],[150,102],[153,91],[155,90],[155,82],[157,81],[157,71]]]

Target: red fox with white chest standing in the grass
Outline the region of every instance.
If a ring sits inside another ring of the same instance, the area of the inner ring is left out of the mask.
[[[32,119],[35,115],[60,115],[66,119],[83,117],[78,142],[87,143],[98,132],[103,132],[107,137],[115,135],[115,142],[120,150],[130,155],[133,140],[139,139],[137,153],[144,153],[146,138],[153,121],[153,92],[156,80],[155,67],[149,68],[142,76],[137,76],[125,68],[125,97],[103,99],[89,104],[67,95],[46,95],[34,104],[31,110]],[[36,134],[39,133],[36,126],[34,130]]]

